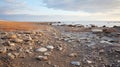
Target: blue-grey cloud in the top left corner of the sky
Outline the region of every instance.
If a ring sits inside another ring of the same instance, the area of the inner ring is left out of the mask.
[[[1,0],[0,14],[10,14],[25,9],[25,3],[18,0]]]

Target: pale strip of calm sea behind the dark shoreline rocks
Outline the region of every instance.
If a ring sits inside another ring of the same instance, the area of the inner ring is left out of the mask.
[[[55,25],[84,25],[84,26],[90,26],[91,24],[93,25],[97,25],[97,26],[107,26],[107,27],[113,27],[113,26],[120,26],[120,21],[76,21],[76,22],[71,22],[71,21],[67,21],[67,22],[61,22],[61,23],[56,23]]]

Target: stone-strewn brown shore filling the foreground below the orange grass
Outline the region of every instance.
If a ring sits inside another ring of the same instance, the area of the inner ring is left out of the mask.
[[[0,31],[0,67],[120,67],[119,26],[42,25]]]

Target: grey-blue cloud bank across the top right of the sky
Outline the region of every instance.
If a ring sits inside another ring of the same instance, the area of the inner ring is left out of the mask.
[[[43,0],[48,8],[104,12],[120,9],[120,0]]]

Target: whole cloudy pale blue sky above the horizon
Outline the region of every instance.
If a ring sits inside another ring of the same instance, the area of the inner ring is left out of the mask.
[[[0,0],[0,20],[120,21],[120,0]]]

